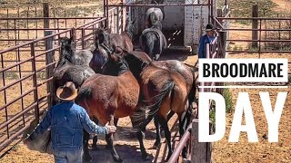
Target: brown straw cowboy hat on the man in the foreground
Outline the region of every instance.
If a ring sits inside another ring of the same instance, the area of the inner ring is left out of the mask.
[[[74,82],[65,82],[64,86],[60,86],[56,90],[57,98],[63,101],[73,101],[78,95],[77,89],[75,89]]]

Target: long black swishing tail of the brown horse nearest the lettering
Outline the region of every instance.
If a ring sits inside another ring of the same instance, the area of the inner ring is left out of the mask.
[[[143,111],[143,113],[139,114],[139,115],[133,115],[132,117],[135,118],[135,120],[140,120],[143,117],[146,117],[146,120],[143,120],[140,124],[135,124],[135,129],[137,129],[137,131],[146,128],[146,125],[154,119],[154,117],[156,116],[157,111],[161,108],[162,102],[164,101],[166,95],[170,94],[171,96],[171,102],[173,101],[173,96],[174,96],[174,89],[175,87],[175,82],[172,80],[169,80],[165,83],[165,85],[163,86],[162,91],[156,95],[155,97],[153,97],[152,99],[155,99],[156,102],[151,105],[148,106],[149,111]],[[172,105],[172,104],[171,104]],[[146,108],[144,108],[143,110],[146,110]],[[135,122],[135,121],[133,121]],[[134,130],[135,130],[134,129]],[[136,131],[136,130],[135,130]]]

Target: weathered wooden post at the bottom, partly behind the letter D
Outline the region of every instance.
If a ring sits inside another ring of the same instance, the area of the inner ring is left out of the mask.
[[[192,153],[191,153],[191,162],[194,163],[210,163],[211,162],[211,143],[209,142],[198,142],[198,119],[192,121],[192,135],[191,142]],[[212,129],[212,123],[209,124],[210,131]]]

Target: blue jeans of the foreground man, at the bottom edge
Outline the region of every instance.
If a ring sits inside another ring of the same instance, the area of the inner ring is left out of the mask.
[[[54,149],[55,163],[82,163],[83,149]]]

